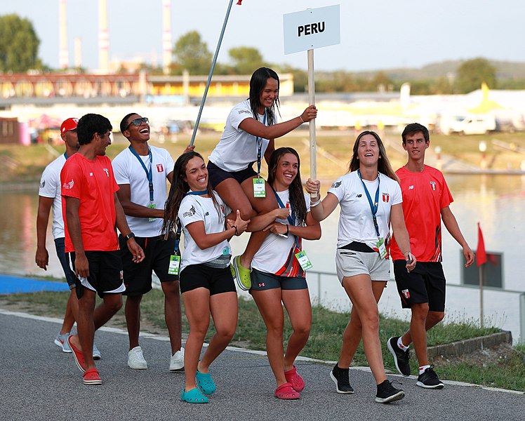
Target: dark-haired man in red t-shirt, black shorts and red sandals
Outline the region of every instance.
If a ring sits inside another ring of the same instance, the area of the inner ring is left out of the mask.
[[[117,229],[127,239],[134,262],[144,259],[117,198],[117,182],[106,147],[112,126],[105,116],[86,114],[77,126],[79,152],[60,173],[65,252],[76,275],[79,298],[78,335],[69,336],[85,385],[101,385],[93,361],[93,336],[122,307],[124,287]],[[103,299],[95,310],[95,294]]]

